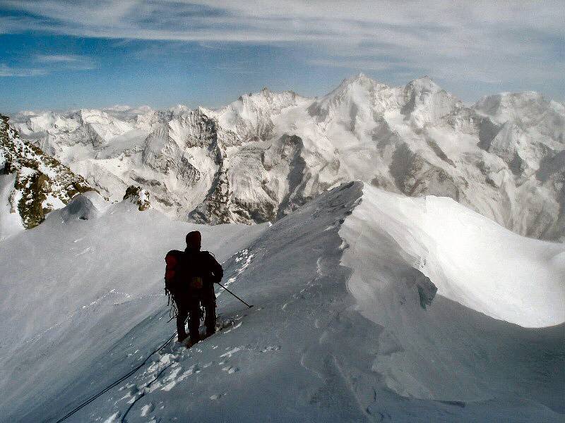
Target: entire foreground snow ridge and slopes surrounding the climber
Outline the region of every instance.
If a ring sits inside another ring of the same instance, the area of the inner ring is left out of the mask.
[[[56,422],[166,341],[163,257],[195,228],[254,307],[218,290],[220,332],[66,421],[562,422],[564,245],[360,182],[256,226],[88,192],[2,240],[2,418]]]

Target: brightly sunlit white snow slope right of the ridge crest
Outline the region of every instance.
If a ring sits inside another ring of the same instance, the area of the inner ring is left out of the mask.
[[[354,275],[350,288],[376,310],[383,309],[381,289],[389,288],[382,286],[389,271],[380,266],[397,271],[398,262],[408,262],[439,295],[495,319],[524,327],[565,321],[564,245],[516,235],[451,199],[413,199],[367,185],[340,234],[352,245],[346,265],[374,262],[363,269],[368,275]]]

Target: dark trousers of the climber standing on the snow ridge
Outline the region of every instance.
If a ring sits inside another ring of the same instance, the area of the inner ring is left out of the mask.
[[[186,330],[184,329],[184,322],[189,317],[189,334],[193,342],[200,340],[200,305],[203,305],[205,310],[204,325],[206,326],[206,336],[210,336],[216,331],[216,302],[214,300],[204,300],[202,298],[186,298],[180,304],[179,314],[177,315],[177,331],[179,339],[186,338]]]

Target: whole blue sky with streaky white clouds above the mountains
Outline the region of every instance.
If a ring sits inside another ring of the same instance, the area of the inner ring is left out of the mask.
[[[0,0],[0,111],[323,95],[362,71],[565,99],[563,1]]]

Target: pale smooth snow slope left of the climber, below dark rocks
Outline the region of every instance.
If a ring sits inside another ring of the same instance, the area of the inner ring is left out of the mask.
[[[129,200],[109,205],[88,192],[37,228],[2,241],[1,415],[19,409],[22,417],[22,410],[42,398],[54,400],[50,394],[88,373],[100,355],[111,362],[105,352],[165,308],[163,257],[184,248],[184,236],[195,229],[203,234],[203,246],[224,260],[262,226],[174,222],[153,210],[139,212]],[[169,328],[163,324],[153,335],[164,336],[164,329]],[[117,363],[107,376],[119,369]],[[83,386],[88,391],[105,379],[97,370],[90,376],[92,382]]]

